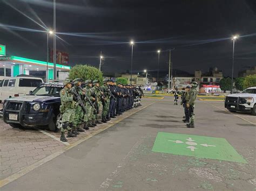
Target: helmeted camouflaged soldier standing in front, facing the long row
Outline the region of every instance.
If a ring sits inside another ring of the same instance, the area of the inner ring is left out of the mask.
[[[194,105],[197,99],[198,91],[197,91],[197,82],[191,82],[191,90],[188,93],[188,102],[186,107],[190,113],[190,123],[187,124],[187,128],[194,128]]]

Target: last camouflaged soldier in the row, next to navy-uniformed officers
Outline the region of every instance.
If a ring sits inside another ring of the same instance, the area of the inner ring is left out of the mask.
[[[109,80],[104,79],[103,80],[104,85],[100,87],[102,90],[105,98],[103,100],[103,110],[102,110],[102,122],[106,123],[106,121],[109,121],[110,118],[107,118],[107,113],[109,112],[109,103],[110,103],[110,95],[109,95]]]

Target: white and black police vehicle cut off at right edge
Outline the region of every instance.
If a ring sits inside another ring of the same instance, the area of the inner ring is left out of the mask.
[[[242,111],[256,115],[256,87],[247,88],[240,94],[226,96],[225,108],[231,112]]]

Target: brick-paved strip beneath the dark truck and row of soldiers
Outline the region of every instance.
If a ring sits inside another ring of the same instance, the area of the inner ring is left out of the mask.
[[[154,101],[156,100],[143,100],[143,107],[146,107]],[[122,119],[131,116],[143,107],[127,111],[122,116],[114,118],[108,123],[99,124],[96,128],[90,128],[89,131],[80,133],[80,135],[75,138],[68,138],[68,143],[60,142],[59,132],[32,128],[12,128],[10,125],[5,124],[3,119],[0,118],[0,180],[24,168],[28,168],[31,164],[57,151],[63,150],[66,146],[81,142],[97,134],[110,125],[116,124],[122,121]]]

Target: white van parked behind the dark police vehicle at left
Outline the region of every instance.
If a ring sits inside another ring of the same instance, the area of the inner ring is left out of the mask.
[[[41,83],[40,77],[5,77],[0,82],[0,103],[10,97],[25,96]]]

